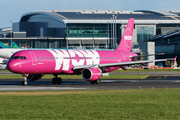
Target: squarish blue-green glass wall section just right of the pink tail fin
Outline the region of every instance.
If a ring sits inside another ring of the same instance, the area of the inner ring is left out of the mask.
[[[147,42],[155,35],[154,26],[137,26],[137,42]]]

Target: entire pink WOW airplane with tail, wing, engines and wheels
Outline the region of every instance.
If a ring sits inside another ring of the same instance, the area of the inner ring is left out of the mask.
[[[23,74],[24,85],[27,85],[28,80],[40,79],[44,74],[55,76],[53,84],[61,84],[59,74],[82,74],[91,84],[98,84],[102,75],[119,68],[126,70],[126,65],[166,61],[167,59],[134,61],[138,56],[131,52],[133,27],[134,19],[130,18],[115,50],[22,50],[11,56],[7,69]]]

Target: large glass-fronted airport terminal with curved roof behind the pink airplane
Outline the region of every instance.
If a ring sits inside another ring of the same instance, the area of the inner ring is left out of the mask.
[[[114,49],[129,18],[135,18],[133,52],[179,55],[180,11],[175,10],[34,11],[2,28],[0,41],[27,48]]]

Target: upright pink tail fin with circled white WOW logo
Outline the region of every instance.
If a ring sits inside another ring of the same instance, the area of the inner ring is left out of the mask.
[[[130,18],[126,26],[124,34],[121,38],[119,46],[116,50],[123,52],[131,52],[132,38],[133,38],[134,18]]]

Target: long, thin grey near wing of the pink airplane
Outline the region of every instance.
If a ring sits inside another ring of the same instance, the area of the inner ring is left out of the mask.
[[[169,59],[158,59],[158,60],[144,60],[144,61],[131,61],[131,62],[118,62],[118,63],[106,63],[106,64],[95,64],[95,65],[79,65],[74,66],[73,70],[84,69],[88,67],[115,67],[115,66],[126,66],[126,65],[134,65],[134,64],[145,64],[145,63],[152,63],[152,62],[160,62],[160,61],[167,61],[173,60],[173,58]]]

